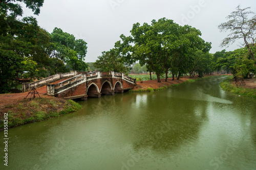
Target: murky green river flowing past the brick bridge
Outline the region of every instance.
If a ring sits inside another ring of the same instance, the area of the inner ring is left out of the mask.
[[[78,112],[11,128],[0,169],[256,170],[256,99],[223,91],[224,79],[91,98]]]

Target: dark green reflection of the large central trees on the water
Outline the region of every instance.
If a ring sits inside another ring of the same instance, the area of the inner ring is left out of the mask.
[[[204,120],[208,119],[207,103],[199,101],[191,104],[191,100],[172,100],[176,102],[169,101],[175,104],[167,105],[168,114],[148,114],[142,120],[140,130],[137,131],[139,139],[133,143],[135,151],[150,149],[164,154],[177,150],[184,143],[193,143],[197,140]],[[158,108],[163,107],[166,105],[158,103]],[[200,113],[197,112],[197,108],[200,108]],[[155,124],[152,124],[154,122]]]

